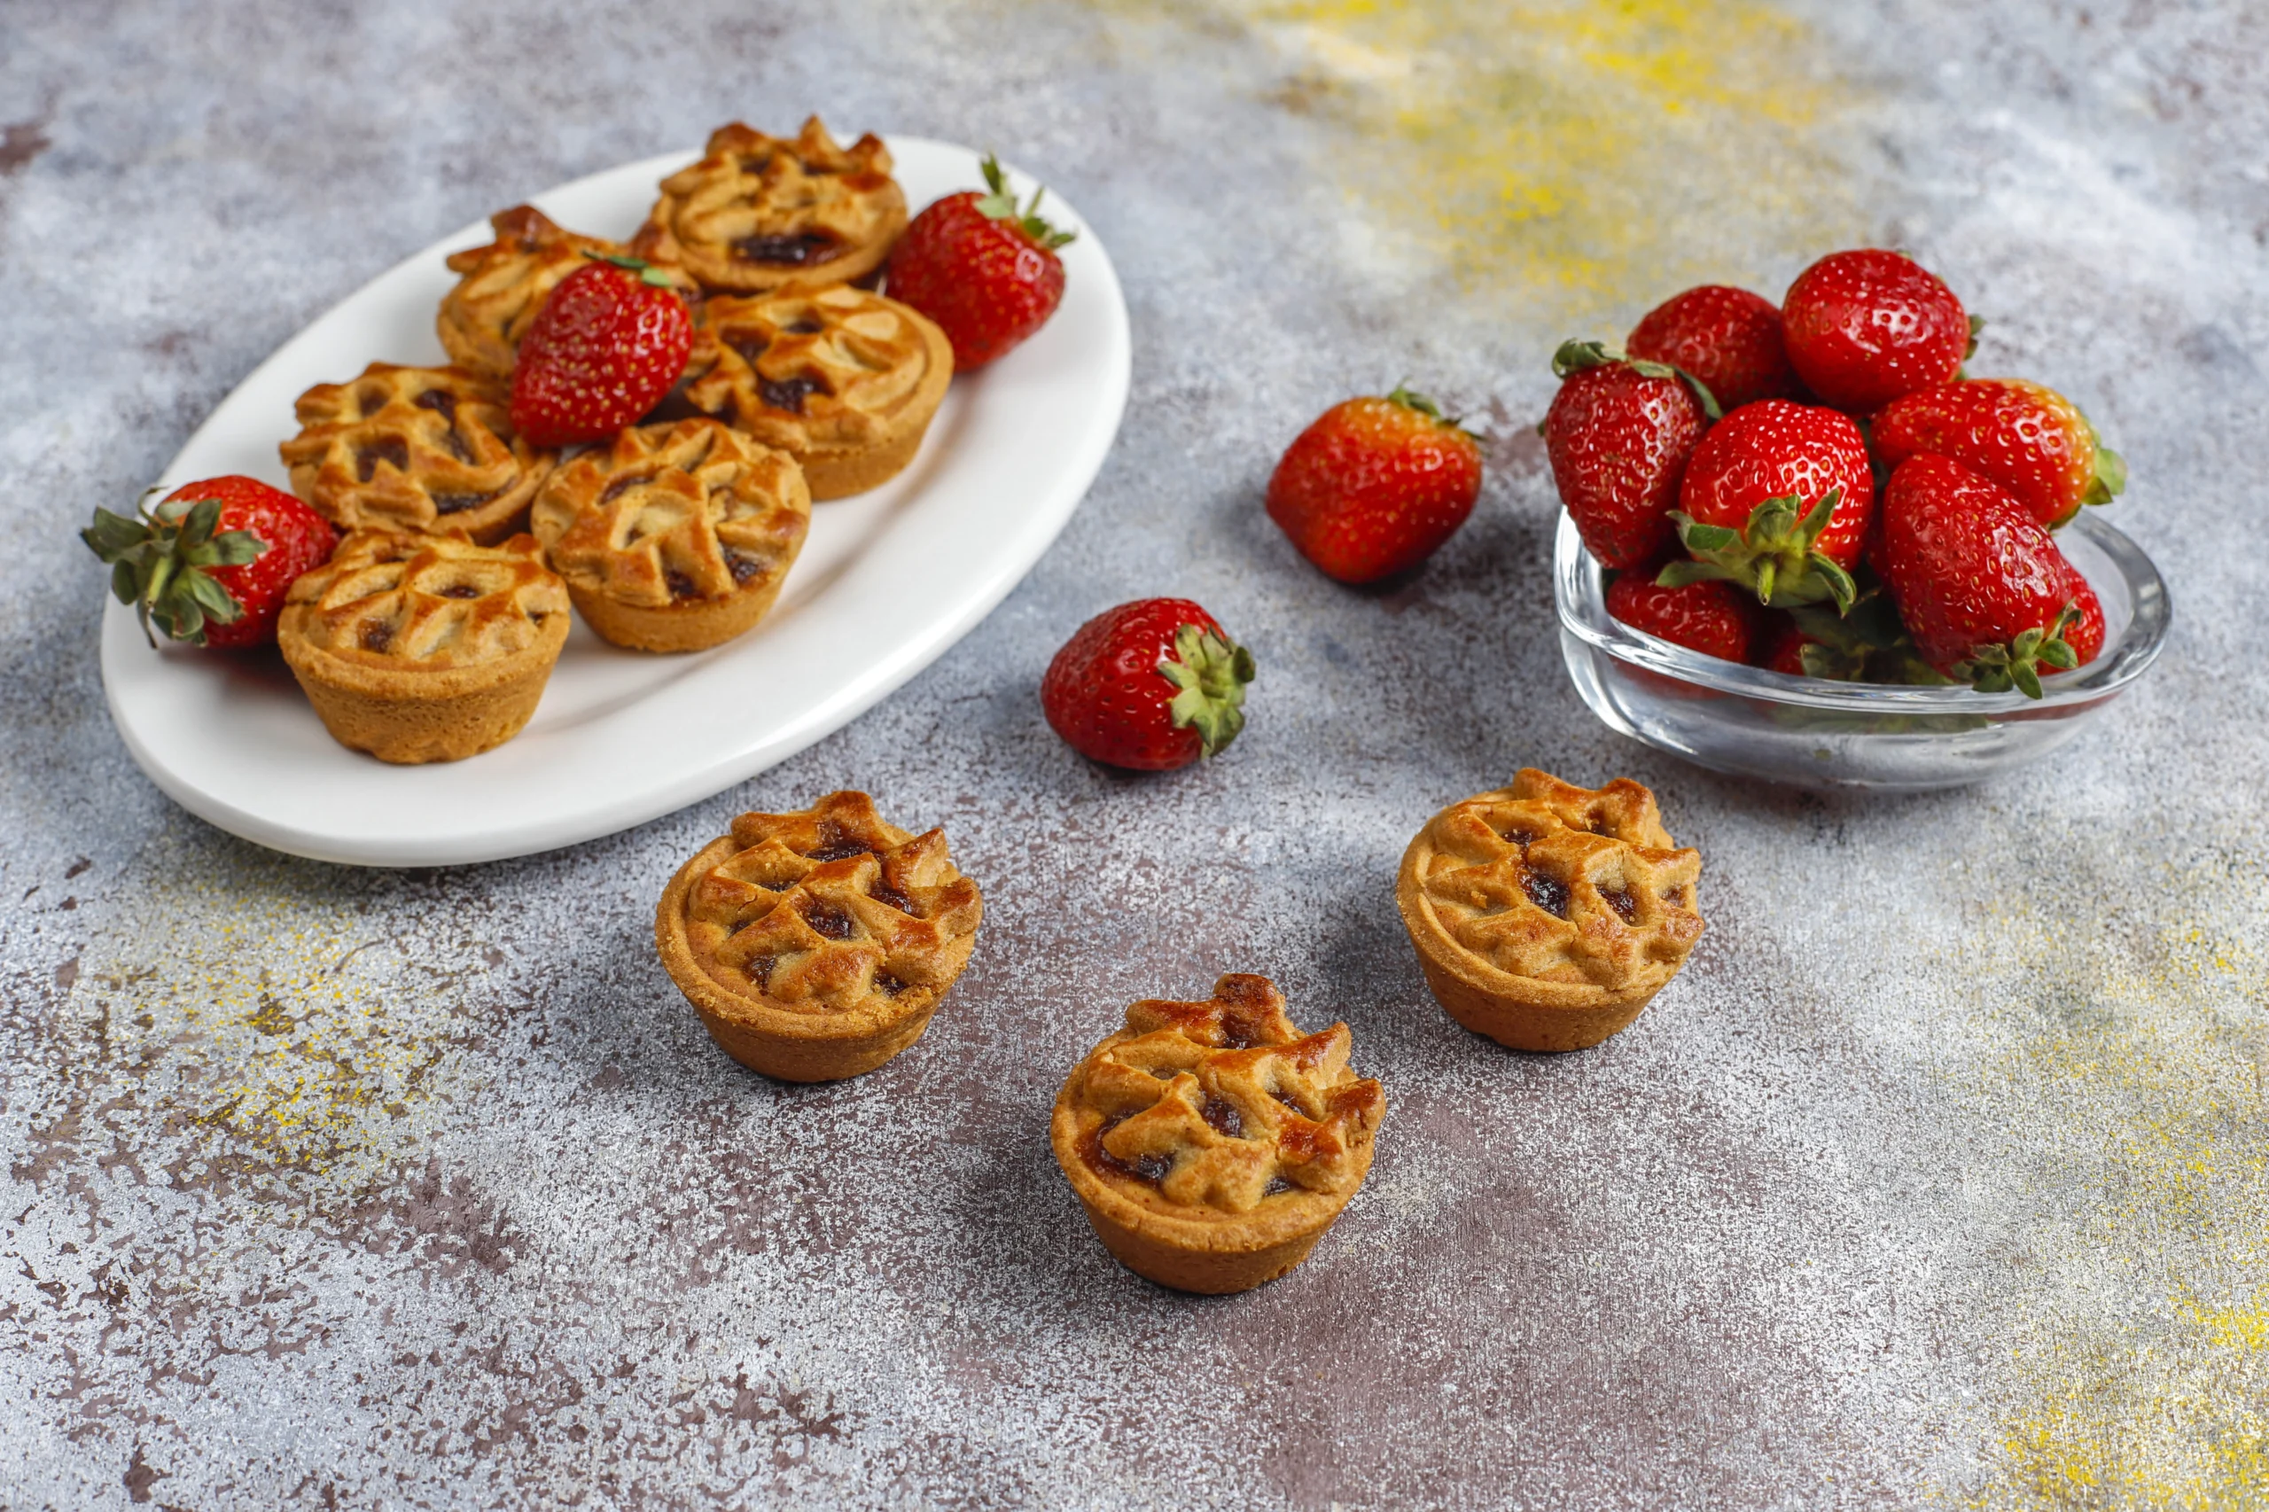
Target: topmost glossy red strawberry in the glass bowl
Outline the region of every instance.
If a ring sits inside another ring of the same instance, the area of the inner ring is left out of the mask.
[[[1788,361],[1822,404],[1874,413],[1945,384],[1969,354],[1963,302],[1897,252],[1833,252],[1781,300]]]

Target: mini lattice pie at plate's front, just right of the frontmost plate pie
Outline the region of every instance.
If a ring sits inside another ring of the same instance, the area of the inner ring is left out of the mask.
[[[576,613],[638,652],[699,652],[762,620],[810,522],[796,461],[715,420],[624,429],[554,468],[531,513]]]

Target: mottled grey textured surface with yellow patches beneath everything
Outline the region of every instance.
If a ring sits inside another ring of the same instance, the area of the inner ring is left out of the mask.
[[[0,1507],[2262,1505],[2264,57],[2242,0],[0,2]],[[88,511],[440,232],[815,107],[998,145],[1119,261],[1132,406],[1030,581],[796,761],[554,856],[347,872],[159,797]],[[2131,461],[2178,627],[2056,770],[1758,790],[1559,667],[1552,343],[1863,241]],[[1257,495],[1405,375],[1491,484],[1348,593]],[[1252,724],[1110,776],[1035,686],[1162,590],[1255,645]],[[1522,763],[1652,783],[1706,858],[1679,985],[1557,1060],[1457,1031],[1391,906]],[[833,786],[946,824],[987,924],[919,1049],[785,1090],[649,908]],[[1391,1103],[1314,1260],[1193,1301],[1105,1258],[1046,1108],[1223,969],[1346,1017]]]

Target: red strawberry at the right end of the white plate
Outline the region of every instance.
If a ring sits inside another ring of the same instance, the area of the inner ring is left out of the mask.
[[[1037,331],[1064,302],[1057,247],[1073,232],[1039,218],[1046,188],[1017,209],[1001,163],[987,157],[978,195],[946,195],[914,216],[889,254],[889,297],[912,304],[953,343],[960,372],[982,368]]]

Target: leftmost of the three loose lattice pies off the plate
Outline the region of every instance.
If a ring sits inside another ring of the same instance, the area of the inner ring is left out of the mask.
[[[837,1081],[921,1038],[982,913],[946,831],[910,835],[864,792],[830,792],[733,820],[669,879],[653,942],[728,1056]]]

